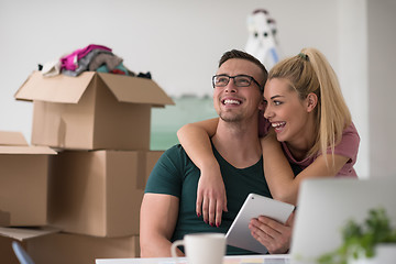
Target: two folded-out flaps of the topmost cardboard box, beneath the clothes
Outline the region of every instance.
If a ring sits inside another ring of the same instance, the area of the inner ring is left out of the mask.
[[[96,72],[84,72],[77,77],[62,74],[56,77],[43,77],[40,72],[33,72],[14,96],[18,100],[77,103],[95,78],[102,79],[119,101],[175,105],[151,79]]]

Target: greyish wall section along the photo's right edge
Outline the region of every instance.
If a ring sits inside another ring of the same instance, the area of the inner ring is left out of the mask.
[[[396,176],[396,1],[367,1],[370,174]]]

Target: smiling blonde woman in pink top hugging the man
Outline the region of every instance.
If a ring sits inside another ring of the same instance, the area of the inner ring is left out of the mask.
[[[360,136],[323,54],[304,48],[276,64],[265,84],[264,102],[261,133],[265,136],[261,143],[264,173],[274,199],[296,205],[299,184],[306,178],[358,177],[353,165]],[[209,223],[221,221],[222,211],[227,211],[226,190],[209,141],[217,122],[191,123],[177,132],[183,147],[200,168],[197,215]],[[302,170],[295,176],[288,162]]]

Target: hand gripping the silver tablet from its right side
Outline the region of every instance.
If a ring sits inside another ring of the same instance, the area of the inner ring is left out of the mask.
[[[254,239],[262,243],[271,254],[285,254],[290,248],[294,222],[293,212],[285,224],[260,216],[251,220],[249,229]]]

